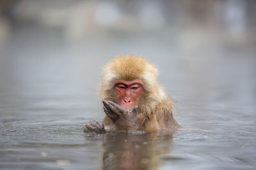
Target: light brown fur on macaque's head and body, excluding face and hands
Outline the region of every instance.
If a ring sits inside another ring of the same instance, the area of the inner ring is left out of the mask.
[[[100,98],[106,101],[116,101],[114,84],[116,80],[141,80],[143,94],[138,99],[138,114],[136,119],[145,132],[174,131],[179,124],[173,118],[172,101],[157,82],[157,69],[143,57],[116,57],[104,67],[100,86]],[[111,130],[112,120],[106,116],[103,120],[105,129]]]

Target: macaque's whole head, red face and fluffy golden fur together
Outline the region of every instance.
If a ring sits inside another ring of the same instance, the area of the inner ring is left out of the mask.
[[[142,57],[128,56],[116,57],[106,64],[100,97],[128,109],[136,105],[148,109],[156,107],[166,94],[157,83],[156,67]]]

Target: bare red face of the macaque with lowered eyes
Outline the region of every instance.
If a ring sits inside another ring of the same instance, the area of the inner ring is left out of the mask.
[[[118,80],[115,82],[115,90],[118,96],[118,104],[132,110],[138,102],[138,97],[141,95],[143,85],[140,80]]]

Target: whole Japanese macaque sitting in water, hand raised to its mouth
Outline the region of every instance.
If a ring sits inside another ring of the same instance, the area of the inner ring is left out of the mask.
[[[103,70],[102,123],[90,120],[84,132],[174,132],[172,101],[157,82],[157,69],[143,57],[116,57]]]

